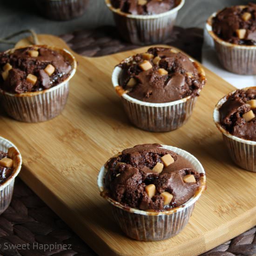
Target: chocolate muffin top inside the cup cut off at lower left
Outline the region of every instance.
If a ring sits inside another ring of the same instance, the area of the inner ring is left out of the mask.
[[[13,150],[15,148],[9,148],[8,153],[0,150],[0,184],[4,183],[13,173]]]

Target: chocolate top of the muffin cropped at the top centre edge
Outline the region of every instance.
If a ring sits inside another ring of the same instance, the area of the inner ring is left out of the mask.
[[[165,13],[176,6],[175,0],[111,0],[111,5],[135,15]]]

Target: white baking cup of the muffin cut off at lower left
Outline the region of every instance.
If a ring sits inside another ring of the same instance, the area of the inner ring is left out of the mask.
[[[16,146],[8,141],[7,139],[4,139],[3,137],[0,137],[0,150],[7,152],[8,148],[15,148],[15,152],[13,153],[13,173],[12,175],[0,185],[0,214],[2,214],[9,206],[12,196],[13,196],[13,187],[14,187],[14,181],[17,175],[20,172],[22,159],[19,150],[16,148]]]

